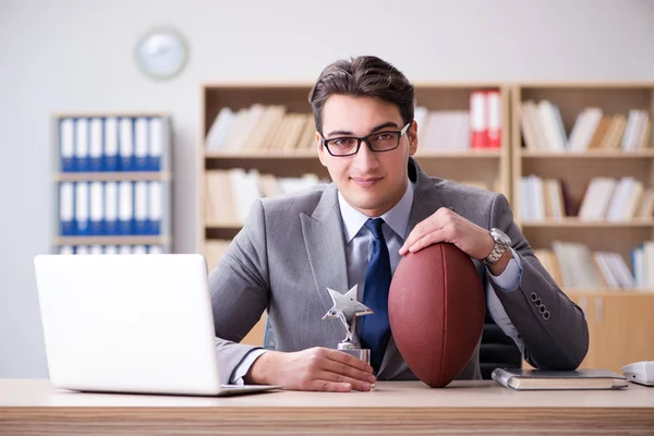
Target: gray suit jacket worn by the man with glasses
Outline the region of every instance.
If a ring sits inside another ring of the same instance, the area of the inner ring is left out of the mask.
[[[506,197],[429,178],[413,158],[409,161],[409,177],[416,184],[404,238],[417,222],[444,206],[483,228],[504,230],[522,261],[522,276],[513,291],[493,289],[518,330],[525,360],[547,370],[578,367],[589,346],[584,314],[533,255]],[[486,268],[474,262],[486,289]],[[256,202],[243,229],[209,274],[222,382],[227,383],[239,363],[255,349],[238,342],[266,310],[274,349],[290,352],[312,347],[336,348],[344,332],[340,323],[320,319],[332,305],[326,288],[347,292],[351,284],[334,184],[291,197]],[[543,315],[545,312],[548,317]],[[377,378],[416,379],[392,337]],[[481,378],[479,347],[458,378]]]

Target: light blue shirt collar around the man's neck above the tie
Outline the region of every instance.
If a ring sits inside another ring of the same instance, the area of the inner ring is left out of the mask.
[[[409,226],[409,214],[411,214],[411,206],[413,205],[413,182],[409,180],[407,183],[407,191],[404,191],[402,198],[400,198],[390,210],[379,217],[384,219],[388,227],[390,227],[401,239],[404,239],[407,226]],[[340,191],[338,193],[338,205],[343,220],[346,243],[350,243],[365,225],[365,221],[371,217],[353,208],[346,201]]]

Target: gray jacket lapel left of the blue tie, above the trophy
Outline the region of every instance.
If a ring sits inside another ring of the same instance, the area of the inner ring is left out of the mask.
[[[332,305],[327,288],[348,292],[346,246],[336,186],[330,184],[313,215],[303,214],[300,220],[316,292],[327,313]]]

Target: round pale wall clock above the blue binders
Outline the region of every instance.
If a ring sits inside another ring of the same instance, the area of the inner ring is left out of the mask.
[[[136,62],[154,78],[172,78],[189,58],[184,38],[172,29],[156,29],[145,35],[136,46]]]

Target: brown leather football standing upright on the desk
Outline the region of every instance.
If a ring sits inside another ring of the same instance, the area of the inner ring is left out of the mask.
[[[484,327],[484,289],[470,256],[437,243],[400,261],[388,295],[390,330],[423,383],[447,386],[472,358]]]

